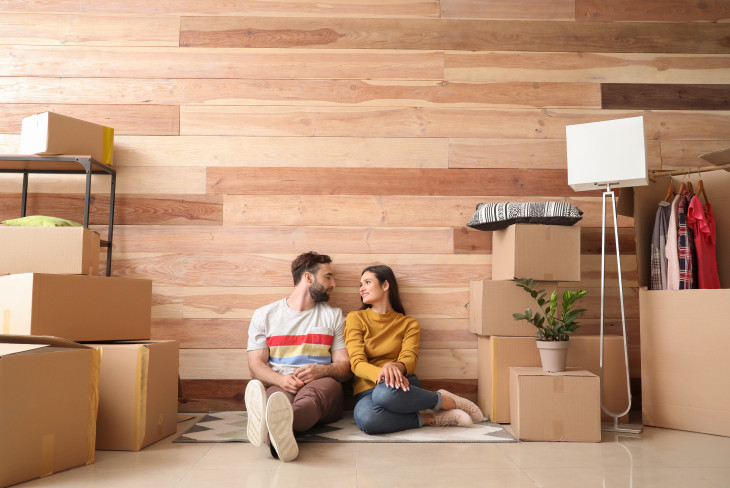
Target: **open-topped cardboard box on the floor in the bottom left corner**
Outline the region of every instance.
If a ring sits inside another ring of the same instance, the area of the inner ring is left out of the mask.
[[[94,462],[99,353],[0,335],[0,487]]]

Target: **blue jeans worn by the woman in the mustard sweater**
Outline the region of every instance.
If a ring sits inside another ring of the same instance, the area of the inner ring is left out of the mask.
[[[381,382],[355,395],[354,416],[360,430],[366,434],[387,434],[416,429],[423,425],[419,410],[441,408],[440,393],[421,388],[416,375],[408,376],[408,382],[409,391]]]

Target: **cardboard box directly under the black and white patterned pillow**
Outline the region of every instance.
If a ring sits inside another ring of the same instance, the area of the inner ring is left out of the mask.
[[[492,234],[492,279],[580,281],[580,227],[514,224]]]

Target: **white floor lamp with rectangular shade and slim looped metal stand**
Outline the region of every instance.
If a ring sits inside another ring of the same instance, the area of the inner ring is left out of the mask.
[[[629,377],[629,355],[624,313],[624,292],[621,275],[621,253],[619,250],[616,198],[614,188],[642,186],[649,184],[644,145],[644,118],[607,120],[588,124],[569,125],[565,128],[568,153],[568,185],[575,191],[591,191],[605,188],[603,192],[603,215],[601,219],[601,338],[600,379],[601,408],[613,417],[613,423],[603,426],[604,431],[638,434],[641,426],[619,426],[618,419],[631,410],[631,385]],[[606,407],[603,398],[603,353],[605,318],[606,279],[606,201],[610,197],[613,212],[613,229],[618,266],[619,301],[621,304],[621,325],[623,332],[624,364],[626,367],[626,390],[628,406],[623,412],[614,412]]]

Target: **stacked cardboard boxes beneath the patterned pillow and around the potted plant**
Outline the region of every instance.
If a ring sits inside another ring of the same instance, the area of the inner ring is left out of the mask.
[[[493,422],[511,422],[520,439],[600,441],[600,337],[573,336],[568,370],[543,372],[535,328],[512,316],[537,304],[514,278],[532,278],[561,295],[570,285],[563,282],[580,280],[580,228],[515,224],[494,232],[492,280],[470,286],[479,407]],[[628,403],[625,371],[622,338],[606,336],[603,400],[613,411]]]

